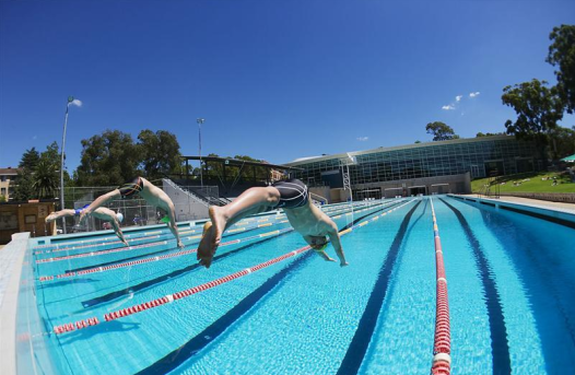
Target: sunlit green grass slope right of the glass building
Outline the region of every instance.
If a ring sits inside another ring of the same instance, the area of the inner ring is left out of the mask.
[[[553,177],[558,181],[555,186],[553,186]],[[575,183],[571,181],[571,176],[566,172],[500,176],[493,184],[498,184],[500,192],[575,192]],[[489,185],[489,178],[474,179],[471,181],[471,191],[482,192],[484,185]],[[492,187],[491,191],[494,191]]]

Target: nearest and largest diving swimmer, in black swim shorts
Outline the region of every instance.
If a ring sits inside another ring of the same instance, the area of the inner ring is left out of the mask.
[[[203,226],[203,236],[198,246],[200,265],[209,268],[224,231],[243,218],[282,208],[290,224],[312,248],[325,260],[335,261],[325,248],[329,241],[340,259],[340,266],[348,266],[341,248],[338,226],[328,215],[318,210],[308,199],[307,186],[298,179],[278,181],[268,187],[247,189],[224,207],[210,207],[211,221]]]

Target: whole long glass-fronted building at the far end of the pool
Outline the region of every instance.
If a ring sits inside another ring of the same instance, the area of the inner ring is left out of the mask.
[[[537,155],[532,142],[493,136],[304,157],[285,165],[302,168],[291,177],[338,202],[349,199],[350,190],[354,200],[471,192],[471,179],[540,169]]]

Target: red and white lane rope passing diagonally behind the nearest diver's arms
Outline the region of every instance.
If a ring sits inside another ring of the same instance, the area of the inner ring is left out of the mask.
[[[376,221],[380,216],[384,216],[384,215],[386,215],[388,213],[391,213],[391,212],[402,208],[403,206],[406,206],[408,203],[411,203],[412,201],[413,200],[410,200],[410,201],[408,201],[408,202],[406,202],[403,204],[400,204],[400,206],[398,206],[398,207],[396,207],[396,208],[394,208],[394,209],[391,209],[389,211],[386,211],[386,212],[379,214],[376,218],[373,218],[372,220],[368,220],[366,222],[362,222],[361,224],[356,224],[356,225],[354,225],[354,226],[352,226],[352,227],[350,227],[350,228],[348,228],[345,231],[342,231],[342,232],[340,232],[340,235],[345,235],[345,234],[352,232],[355,227],[361,227],[361,226],[366,225],[366,223],[368,223],[368,222]],[[150,308],[154,308],[154,307],[164,305],[166,303],[172,303],[174,301],[188,297],[190,295],[197,294],[199,292],[207,291],[209,289],[212,289],[214,286],[224,284],[224,283],[230,282],[232,280],[236,280],[236,279],[243,278],[243,277],[248,276],[248,274],[250,274],[253,272],[256,272],[256,271],[259,271],[259,270],[261,270],[263,268],[267,268],[267,267],[269,267],[271,265],[275,265],[275,263],[278,263],[280,261],[283,261],[285,259],[290,259],[290,258],[295,257],[295,256],[297,256],[297,255],[300,255],[300,254],[302,254],[304,251],[307,251],[309,249],[310,249],[309,246],[304,246],[304,247],[301,247],[301,248],[298,248],[296,250],[290,251],[288,254],[279,256],[277,258],[273,258],[273,259],[270,259],[270,260],[265,261],[262,263],[259,263],[257,266],[246,268],[246,269],[244,269],[242,271],[228,274],[228,276],[220,278],[220,279],[215,279],[213,281],[203,283],[201,285],[193,286],[193,288],[190,288],[190,289],[186,289],[186,290],[173,293],[173,294],[168,294],[168,295],[162,296],[160,298],[155,298],[153,301],[144,302],[144,303],[141,303],[141,304],[138,304],[138,305],[133,305],[133,306],[130,306],[130,307],[126,307],[126,308],[122,308],[122,309],[119,309],[119,310],[116,310],[116,312],[112,312],[112,313],[105,314],[104,315],[104,320],[105,321],[115,320],[115,319],[118,319],[118,318],[122,318],[122,317],[126,317],[126,316],[129,316],[129,315],[133,315],[133,314],[143,312],[143,310],[146,310],[146,309],[150,309]],[[54,327],[54,332],[57,333],[57,335],[60,335],[60,333],[73,331],[73,330],[77,330],[77,329],[86,328],[89,326],[94,326],[94,325],[97,325],[97,324],[99,324],[99,320],[97,319],[97,317],[92,317],[92,318],[87,318],[87,319],[78,320],[75,323],[69,323],[69,324],[63,324],[63,325],[60,325],[60,326],[55,326]]]

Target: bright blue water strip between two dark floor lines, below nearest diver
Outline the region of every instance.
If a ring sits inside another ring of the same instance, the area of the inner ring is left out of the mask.
[[[343,236],[350,267],[333,267],[313,257],[174,374],[336,373],[397,236],[401,220],[396,219],[402,219],[414,204]],[[376,238],[383,243],[374,242]],[[330,292],[326,293],[326,286]],[[254,345],[258,356],[245,356],[243,349]]]

